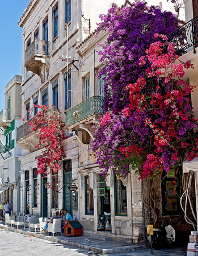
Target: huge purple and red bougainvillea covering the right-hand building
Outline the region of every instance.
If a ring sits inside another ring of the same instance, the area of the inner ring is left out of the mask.
[[[185,158],[191,160],[197,155],[197,133],[193,133],[197,122],[190,100],[193,88],[182,80],[184,68],[193,67],[190,62],[179,61],[179,52],[176,52],[174,44],[168,42],[165,35],[166,28],[157,27],[157,24],[154,24],[153,34],[153,27],[146,27],[146,33],[143,33],[135,29],[137,22],[130,23],[131,32],[128,31],[128,34],[132,35],[136,31],[137,35],[133,35],[132,42],[128,42],[130,49],[126,53],[123,50],[128,47],[125,45],[125,34],[115,38],[115,29],[127,26],[123,25],[121,17],[125,14],[130,17],[130,13],[138,13],[138,23],[141,20],[145,22],[140,17],[148,13],[154,23],[159,22],[159,14],[165,19],[161,10],[153,6],[149,8],[141,2],[128,10],[113,6],[107,15],[102,16],[104,22],[100,29],[106,27],[110,31],[102,52],[102,60],[106,57],[107,64],[101,71],[107,72],[106,114],[96,125],[91,150],[98,156],[103,175],[113,170],[125,177],[131,167],[141,179],[145,179],[178,167]],[[174,15],[168,15],[174,19]],[[126,20],[127,16],[125,24]],[[141,23],[142,29],[144,22]],[[174,28],[169,22],[167,27],[169,32]],[[158,31],[162,30],[165,33],[160,35]],[[136,44],[140,40],[138,33],[140,39],[142,34],[148,38],[146,40],[145,37],[146,43],[150,42],[148,48],[142,41],[143,46],[137,48]],[[152,39],[150,35],[153,35]],[[129,39],[128,36],[126,38]],[[132,63],[129,55],[133,55]],[[137,63],[139,68],[136,67]]]

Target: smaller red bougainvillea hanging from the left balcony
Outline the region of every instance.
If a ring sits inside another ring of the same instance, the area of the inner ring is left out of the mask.
[[[65,157],[61,141],[66,139],[65,123],[61,120],[61,113],[54,106],[37,106],[40,111],[29,122],[30,129],[38,131],[39,143],[35,148],[44,147],[42,155],[37,159],[38,174],[56,174],[61,169],[60,161]],[[30,117],[32,109],[29,111]]]

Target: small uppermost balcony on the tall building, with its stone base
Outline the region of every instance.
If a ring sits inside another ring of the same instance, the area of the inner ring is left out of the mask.
[[[40,67],[48,63],[49,42],[35,39],[25,52],[25,67],[40,75]]]

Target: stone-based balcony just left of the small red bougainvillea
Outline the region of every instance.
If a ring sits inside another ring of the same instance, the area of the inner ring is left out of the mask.
[[[38,131],[33,131],[29,125],[31,120],[16,128],[16,143],[18,147],[29,151],[34,150],[35,145],[39,143]]]

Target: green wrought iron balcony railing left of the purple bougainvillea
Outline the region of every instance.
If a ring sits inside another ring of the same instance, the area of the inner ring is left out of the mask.
[[[81,122],[84,119],[91,117],[92,115],[103,114],[103,100],[103,97],[93,96],[88,100],[78,104],[74,108],[69,109],[66,112],[66,127],[74,125],[74,123]]]

